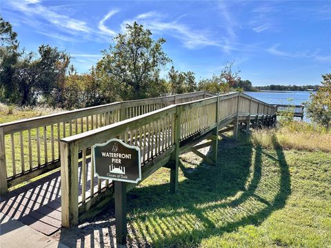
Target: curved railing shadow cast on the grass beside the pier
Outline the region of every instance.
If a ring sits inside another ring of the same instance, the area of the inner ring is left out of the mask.
[[[268,158],[277,164],[279,175],[265,194],[259,187],[263,154],[268,153],[259,145],[253,149],[247,141],[232,149],[219,149],[216,167],[199,165],[191,172],[181,164],[185,180],[179,183],[176,195],[168,192],[167,184],[134,189],[128,196],[129,225],[140,235],[132,231],[131,241],[148,240],[153,247],[192,247],[203,238],[259,225],[283,208],[290,195],[285,155],[275,136],[272,142],[277,158]]]

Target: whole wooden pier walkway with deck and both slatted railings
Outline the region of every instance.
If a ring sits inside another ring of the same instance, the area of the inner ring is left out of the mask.
[[[243,93],[194,92],[0,124],[0,211],[48,235],[77,225],[114,194],[112,182],[96,178],[90,162],[90,147],[110,138],[141,149],[143,179],[168,167],[176,192],[180,154],[194,152],[214,165],[220,132],[233,130],[235,138],[240,128],[272,125],[276,113],[275,105]],[[206,138],[211,141],[197,145]],[[211,157],[199,152],[206,146]],[[26,183],[60,165],[61,172]],[[8,192],[20,183],[26,185]]]

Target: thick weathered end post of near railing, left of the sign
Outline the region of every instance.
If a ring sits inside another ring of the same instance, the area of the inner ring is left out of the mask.
[[[78,147],[60,142],[61,149],[61,212],[62,226],[78,223]]]

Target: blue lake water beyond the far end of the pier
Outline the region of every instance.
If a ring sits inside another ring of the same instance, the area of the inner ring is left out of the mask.
[[[248,96],[252,96],[255,99],[264,101],[270,104],[291,104],[291,105],[302,105],[309,100],[310,94],[314,92],[299,92],[299,91],[284,91],[284,92],[244,92]],[[289,101],[289,99],[291,99]],[[304,112],[303,120],[308,121],[307,113]]]

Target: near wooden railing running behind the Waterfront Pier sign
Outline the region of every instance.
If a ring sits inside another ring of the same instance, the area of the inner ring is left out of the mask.
[[[208,99],[179,103],[112,123],[88,132],[61,138],[62,225],[76,225],[79,216],[109,200],[114,189],[109,180],[94,177],[88,150],[95,143],[121,138],[141,150],[142,180],[159,167],[168,165],[170,189],[178,185],[179,154],[192,148],[201,137],[214,136],[213,161],[217,160],[217,136],[221,127],[244,121],[271,121],[276,107],[242,93],[211,96]],[[79,154],[82,154],[79,156]],[[134,187],[133,184],[127,189]]]

